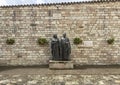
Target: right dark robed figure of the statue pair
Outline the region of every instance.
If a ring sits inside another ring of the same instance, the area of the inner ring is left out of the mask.
[[[71,46],[69,39],[66,37],[66,33],[63,34],[61,39],[61,49],[60,49],[60,56],[62,57],[63,61],[68,61],[71,53]]]

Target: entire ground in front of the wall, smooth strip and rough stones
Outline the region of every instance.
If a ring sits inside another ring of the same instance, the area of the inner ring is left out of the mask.
[[[120,85],[120,68],[1,68],[0,85]]]

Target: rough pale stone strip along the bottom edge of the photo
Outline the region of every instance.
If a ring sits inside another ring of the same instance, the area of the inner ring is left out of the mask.
[[[0,75],[1,85],[120,85],[120,75]]]

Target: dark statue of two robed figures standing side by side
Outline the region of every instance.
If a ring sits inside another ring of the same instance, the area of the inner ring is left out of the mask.
[[[68,61],[70,60],[71,46],[70,41],[66,37],[66,33],[59,40],[57,34],[53,35],[51,40],[51,53],[52,60],[55,61]]]

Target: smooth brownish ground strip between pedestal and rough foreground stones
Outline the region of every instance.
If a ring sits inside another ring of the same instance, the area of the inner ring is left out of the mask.
[[[51,70],[47,67],[41,68],[37,67],[0,67],[0,75],[2,74],[40,74],[40,75],[49,75],[49,74],[60,74],[60,75],[69,75],[69,74],[80,74],[80,75],[118,75],[120,74],[120,66],[117,67],[88,67],[88,68],[78,68],[73,70]]]

